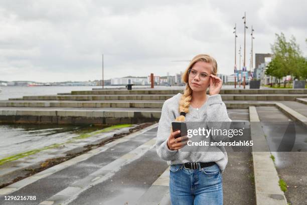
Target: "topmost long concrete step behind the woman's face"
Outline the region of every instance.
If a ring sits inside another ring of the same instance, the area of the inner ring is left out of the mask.
[[[71,94],[177,94],[183,92],[184,88],[177,89],[94,89],[94,90],[76,90]],[[208,91],[207,91],[208,93]],[[307,94],[307,89],[221,89],[220,94]]]

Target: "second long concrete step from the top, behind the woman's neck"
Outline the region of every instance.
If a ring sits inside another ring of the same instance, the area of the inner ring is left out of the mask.
[[[9,100],[166,100],[174,94],[42,95]],[[221,94],[223,100],[295,100],[307,94]]]

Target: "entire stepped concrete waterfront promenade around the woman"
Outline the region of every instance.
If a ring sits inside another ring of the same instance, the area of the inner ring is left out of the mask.
[[[178,92],[182,87],[93,89],[1,100],[3,124],[129,126],[0,165],[0,181],[7,183],[0,188],[0,203],[170,204],[169,167],[158,157],[155,142],[163,102]],[[307,139],[297,135],[296,140],[305,143],[300,151],[270,152],[267,142],[273,135],[269,127],[252,124],[293,121],[305,131],[307,89],[222,89],[220,94],[229,117],[246,122],[251,139],[263,142],[262,152],[229,150],[223,173],[224,204],[307,203]],[[69,154],[72,157],[63,158]],[[63,161],[31,175],[25,171],[46,162],[48,156]],[[287,183],[285,192],[280,179]],[[36,200],[5,200],[9,195],[35,195]]]

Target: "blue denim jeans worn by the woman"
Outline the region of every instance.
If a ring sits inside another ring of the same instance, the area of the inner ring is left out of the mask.
[[[170,166],[172,205],[223,205],[222,173],[217,164],[186,169],[183,164]]]

